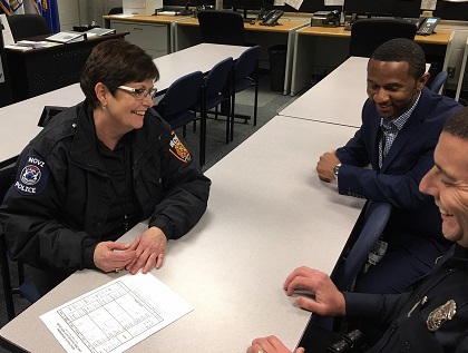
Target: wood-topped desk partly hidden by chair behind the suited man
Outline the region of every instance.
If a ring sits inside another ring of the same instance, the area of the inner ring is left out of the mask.
[[[348,58],[351,31],[344,27],[305,27],[299,29],[292,63],[291,96],[299,94],[310,85],[314,67],[335,68]],[[421,45],[427,55],[442,58],[443,65],[439,69],[447,69],[450,45],[454,32],[438,30],[431,36],[416,36],[415,40]],[[348,81],[349,84],[349,81]],[[343,81],[347,85],[347,81]]]

